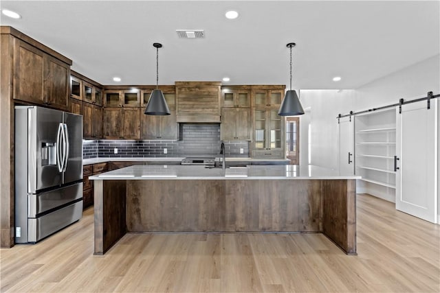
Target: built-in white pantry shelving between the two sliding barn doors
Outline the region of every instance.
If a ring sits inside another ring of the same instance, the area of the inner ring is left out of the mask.
[[[386,200],[395,198],[395,113],[395,108],[388,108],[355,115],[355,174],[362,176],[360,192]]]

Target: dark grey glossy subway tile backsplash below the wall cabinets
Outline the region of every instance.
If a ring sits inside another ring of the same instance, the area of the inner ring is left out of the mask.
[[[249,141],[223,141],[226,156],[248,158]],[[180,124],[179,140],[83,141],[83,158],[219,156],[220,124]],[[115,154],[115,148],[118,154]],[[164,154],[166,148],[167,153]],[[243,154],[240,149],[243,148]]]

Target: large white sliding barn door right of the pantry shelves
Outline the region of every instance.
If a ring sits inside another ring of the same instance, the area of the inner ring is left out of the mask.
[[[397,107],[396,209],[437,223],[437,99]]]

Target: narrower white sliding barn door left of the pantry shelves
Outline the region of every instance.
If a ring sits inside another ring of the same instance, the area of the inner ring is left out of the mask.
[[[339,121],[339,172],[353,175],[354,169],[354,117],[342,117]]]

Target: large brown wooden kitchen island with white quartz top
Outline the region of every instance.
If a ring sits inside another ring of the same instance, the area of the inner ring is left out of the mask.
[[[353,255],[359,178],[311,165],[135,165],[91,176],[94,253],[125,233],[303,232]]]

